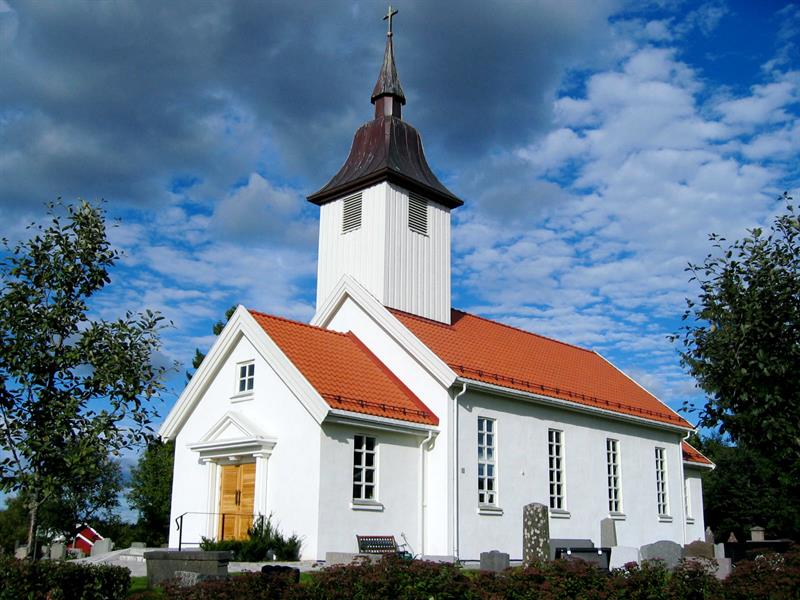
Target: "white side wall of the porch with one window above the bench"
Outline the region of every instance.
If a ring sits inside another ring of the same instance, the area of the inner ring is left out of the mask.
[[[359,506],[353,499],[353,438],[371,436],[377,442],[378,506]],[[393,535],[419,552],[420,438],[369,427],[324,424],[320,456],[323,464],[319,498],[319,547],[326,552],[357,552],[356,535]],[[365,508],[380,508],[366,510]]]

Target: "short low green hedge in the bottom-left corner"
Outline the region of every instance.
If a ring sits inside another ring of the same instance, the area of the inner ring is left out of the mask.
[[[130,585],[125,567],[0,557],[0,600],[117,600]]]

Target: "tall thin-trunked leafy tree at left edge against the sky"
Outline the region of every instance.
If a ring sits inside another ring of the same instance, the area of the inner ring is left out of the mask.
[[[88,314],[119,256],[105,212],[80,202],[48,214],[29,240],[4,240],[0,261],[0,489],[27,500],[29,549],[42,504],[98,455],[144,439],[165,370],[153,362],[159,314]]]

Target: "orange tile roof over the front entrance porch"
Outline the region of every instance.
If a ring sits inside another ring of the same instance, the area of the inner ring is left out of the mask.
[[[438,425],[433,411],[352,333],[250,314],[331,408]]]

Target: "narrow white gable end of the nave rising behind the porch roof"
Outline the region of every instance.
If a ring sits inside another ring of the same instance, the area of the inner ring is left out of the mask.
[[[453,553],[452,470],[448,468],[451,438],[448,390],[351,299],[345,300],[329,329],[352,331],[414,394],[439,417],[433,449],[425,453],[425,534],[420,554]]]

